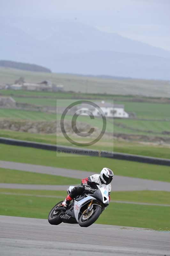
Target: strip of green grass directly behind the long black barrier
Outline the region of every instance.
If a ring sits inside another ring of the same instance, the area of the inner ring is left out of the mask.
[[[7,131],[0,130],[0,137],[18,139],[18,140],[29,140],[43,143],[56,144],[56,134],[42,134],[42,133],[28,133],[28,132],[16,132],[16,131]],[[86,138],[78,139],[77,141],[85,141]],[[58,145],[66,145],[66,146],[74,146],[70,144],[64,136],[57,137]],[[148,145],[137,142],[130,141],[120,141],[120,140],[99,140],[97,144],[90,146],[89,148],[94,149],[103,149],[103,150],[113,150],[115,152],[128,153],[128,154],[136,154],[143,156],[153,156],[153,157],[162,157],[170,159],[170,147],[166,145]]]

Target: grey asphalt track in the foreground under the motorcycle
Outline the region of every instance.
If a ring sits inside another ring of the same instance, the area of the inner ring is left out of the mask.
[[[47,220],[0,216],[2,256],[170,255],[170,232],[93,224],[50,225]]]

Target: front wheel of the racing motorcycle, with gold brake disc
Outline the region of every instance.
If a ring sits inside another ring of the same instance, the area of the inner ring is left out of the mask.
[[[79,225],[81,227],[89,227],[98,219],[101,212],[102,212],[102,209],[99,205],[97,204],[93,205],[93,208],[88,214],[81,214],[78,221]]]

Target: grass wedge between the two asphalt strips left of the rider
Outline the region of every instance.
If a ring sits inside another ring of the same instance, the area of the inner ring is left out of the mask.
[[[0,183],[70,185],[81,180],[62,176],[0,168]]]

